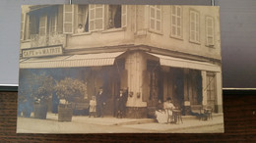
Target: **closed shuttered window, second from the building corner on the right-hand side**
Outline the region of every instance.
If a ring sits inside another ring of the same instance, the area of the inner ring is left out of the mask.
[[[182,37],[182,8],[180,6],[171,6],[170,15],[170,36]]]

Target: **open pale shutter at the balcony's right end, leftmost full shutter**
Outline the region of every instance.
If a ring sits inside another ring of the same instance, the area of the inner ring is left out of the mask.
[[[63,33],[73,33],[74,5],[64,5],[63,9]]]

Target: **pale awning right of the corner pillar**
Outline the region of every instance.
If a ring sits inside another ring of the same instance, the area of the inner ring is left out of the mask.
[[[153,54],[153,53],[148,53],[148,54],[158,57],[160,59],[161,66],[186,68],[186,69],[193,69],[193,70],[200,70],[200,71],[221,71],[221,67],[214,64],[210,64],[210,63],[198,62],[193,60],[184,60],[180,58],[163,56],[163,55]]]

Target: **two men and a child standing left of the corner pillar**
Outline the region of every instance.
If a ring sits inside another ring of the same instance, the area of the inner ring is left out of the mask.
[[[103,118],[104,116],[104,106],[105,106],[106,95],[103,92],[102,87],[96,96],[92,97],[90,100],[89,118],[94,116],[95,118]],[[120,89],[119,95],[116,97],[116,118],[124,118],[125,109],[127,102],[127,90]]]

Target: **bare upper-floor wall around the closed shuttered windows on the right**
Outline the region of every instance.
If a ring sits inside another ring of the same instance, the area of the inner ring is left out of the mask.
[[[216,7],[197,7],[197,6],[183,6],[182,17],[182,38],[170,37],[170,6],[162,6],[161,17],[161,31],[151,32],[150,30],[143,31],[149,28],[149,6],[138,6],[137,14],[137,35],[135,39],[136,44],[145,44],[172,51],[188,53],[193,55],[200,55],[204,57],[221,59],[221,37],[220,37],[220,16],[219,8]],[[193,43],[189,41],[189,11],[195,10],[200,13],[200,43]],[[143,13],[144,12],[144,13]],[[215,46],[213,48],[206,46],[206,16],[214,18],[215,25]],[[145,19],[142,19],[145,18]],[[139,31],[139,33],[138,33]]]

